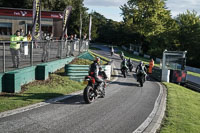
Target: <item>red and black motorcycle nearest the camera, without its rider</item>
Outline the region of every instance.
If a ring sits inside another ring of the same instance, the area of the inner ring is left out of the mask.
[[[100,85],[95,81],[92,76],[86,76],[84,84],[87,84],[83,91],[83,98],[86,103],[92,103],[94,99],[105,97],[106,82],[103,81]],[[96,91],[95,91],[96,90]]]

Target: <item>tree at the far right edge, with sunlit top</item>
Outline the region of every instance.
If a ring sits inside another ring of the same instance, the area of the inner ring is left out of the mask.
[[[200,67],[200,17],[195,11],[186,11],[176,18],[179,25],[179,50],[187,52],[187,62],[191,66]]]

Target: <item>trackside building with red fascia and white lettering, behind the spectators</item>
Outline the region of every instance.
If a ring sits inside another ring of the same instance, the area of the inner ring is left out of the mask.
[[[23,29],[27,34],[32,28],[32,10],[0,8],[0,40],[9,40],[16,30]],[[41,12],[41,30],[61,36],[63,13],[58,11]]]

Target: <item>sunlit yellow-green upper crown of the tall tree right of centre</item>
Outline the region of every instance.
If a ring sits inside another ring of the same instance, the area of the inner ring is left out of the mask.
[[[166,20],[170,18],[164,0],[129,0],[121,10],[124,22],[145,37],[164,32]]]

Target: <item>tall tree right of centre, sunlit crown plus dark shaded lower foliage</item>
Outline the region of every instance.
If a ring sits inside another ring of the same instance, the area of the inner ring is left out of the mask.
[[[142,45],[143,51],[161,53],[168,41],[172,19],[170,11],[165,7],[164,0],[128,0],[120,7],[125,23],[138,35],[135,42]],[[162,38],[164,37],[164,38]],[[163,45],[162,47],[160,45]]]

